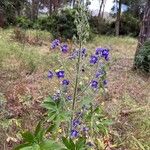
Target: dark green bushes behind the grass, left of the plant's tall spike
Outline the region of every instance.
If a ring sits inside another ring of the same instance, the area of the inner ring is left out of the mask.
[[[75,12],[75,9],[64,8],[49,17],[39,17],[34,21],[26,17],[18,17],[16,23],[22,28],[47,30],[52,33],[54,38],[71,39],[77,32],[74,23]]]

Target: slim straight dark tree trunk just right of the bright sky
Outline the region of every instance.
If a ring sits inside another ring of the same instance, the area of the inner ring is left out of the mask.
[[[121,4],[122,0],[119,0],[119,8],[117,8],[117,19],[116,19],[116,36],[119,36],[120,33]]]

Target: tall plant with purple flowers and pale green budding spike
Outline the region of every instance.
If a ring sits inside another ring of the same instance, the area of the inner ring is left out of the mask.
[[[56,150],[105,148],[101,139],[108,136],[110,121],[98,100],[107,86],[109,50],[96,48],[92,52],[84,47],[89,36],[86,13],[85,7],[78,3],[75,17],[77,35],[74,37],[73,51],[68,44],[61,43],[58,39],[51,43],[51,50],[61,56],[57,63],[60,69],[50,69],[48,78],[50,82],[57,80],[59,88],[42,103],[42,107],[47,110],[46,122],[49,123],[49,128],[44,131],[40,123],[35,137],[32,137],[39,139],[33,143],[40,148],[41,143],[47,146],[47,150],[52,147]]]

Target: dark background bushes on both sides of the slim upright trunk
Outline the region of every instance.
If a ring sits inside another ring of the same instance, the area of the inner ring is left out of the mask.
[[[139,34],[139,19],[129,13],[121,16],[120,35],[137,37]],[[115,34],[115,21],[108,21],[99,17],[90,18],[90,26],[94,33],[104,35]]]

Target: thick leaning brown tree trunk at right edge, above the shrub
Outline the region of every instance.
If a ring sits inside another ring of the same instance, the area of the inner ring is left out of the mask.
[[[149,38],[150,38],[150,0],[147,0],[135,56],[137,56],[137,54],[139,53],[140,47]]]

